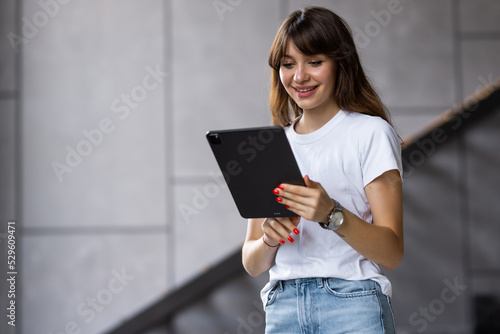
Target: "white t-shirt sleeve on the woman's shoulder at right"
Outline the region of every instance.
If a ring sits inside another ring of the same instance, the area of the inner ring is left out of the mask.
[[[361,128],[358,149],[363,187],[392,169],[397,169],[402,179],[401,144],[392,126],[380,117],[370,117]]]

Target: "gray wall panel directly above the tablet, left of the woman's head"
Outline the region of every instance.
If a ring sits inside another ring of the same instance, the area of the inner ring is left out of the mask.
[[[214,4],[172,2],[176,176],[208,176],[208,130],[271,122],[267,57],[279,2],[243,1],[226,11]]]

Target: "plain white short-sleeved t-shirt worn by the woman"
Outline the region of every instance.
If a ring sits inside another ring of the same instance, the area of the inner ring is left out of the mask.
[[[380,117],[340,110],[313,133],[295,132],[294,123],[285,129],[303,175],[320,182],[328,195],[344,208],[372,223],[364,188],[384,172],[402,173],[401,145],[394,129]],[[385,295],[391,283],[380,267],[355,251],[336,233],[318,223],[301,219],[295,242],[281,245],[270,281],[262,289],[264,305],[270,289],[279,280],[335,277],[346,280],[371,279]]]

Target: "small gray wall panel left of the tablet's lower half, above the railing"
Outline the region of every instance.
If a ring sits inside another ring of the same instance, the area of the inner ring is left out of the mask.
[[[229,189],[220,181],[176,186],[176,284],[193,278],[243,244],[246,219],[241,218]]]

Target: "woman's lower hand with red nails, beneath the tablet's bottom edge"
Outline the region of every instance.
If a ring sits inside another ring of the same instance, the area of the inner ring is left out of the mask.
[[[264,241],[269,245],[284,244],[285,240],[294,242],[290,235],[299,234],[297,225],[300,222],[300,217],[283,217],[283,218],[266,218],[262,223],[262,231],[264,232]]]

